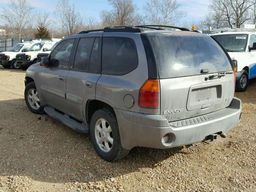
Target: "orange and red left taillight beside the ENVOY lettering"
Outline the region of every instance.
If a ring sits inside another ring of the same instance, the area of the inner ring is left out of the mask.
[[[143,108],[160,108],[160,84],[158,79],[148,79],[139,92],[138,105]]]

